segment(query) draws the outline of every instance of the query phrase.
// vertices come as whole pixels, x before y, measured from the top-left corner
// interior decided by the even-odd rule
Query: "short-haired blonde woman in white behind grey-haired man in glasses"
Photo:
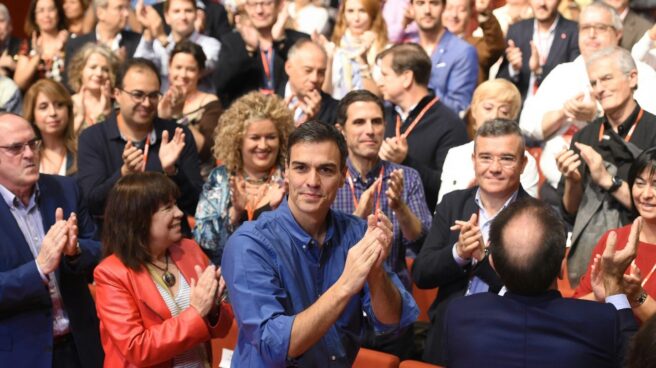
[[[522,98],[514,84],[505,79],[493,79],[481,83],[472,97],[472,103],[465,115],[467,131],[470,137],[475,137],[478,128],[488,120],[503,118],[516,120]],[[471,188],[476,184],[474,174],[474,141],[453,147],[449,150],[442,167],[442,184],[437,203],[442,197],[454,190]],[[529,153],[524,153],[527,162],[520,177],[522,188],[533,197],[538,193],[538,169],[535,159]]]

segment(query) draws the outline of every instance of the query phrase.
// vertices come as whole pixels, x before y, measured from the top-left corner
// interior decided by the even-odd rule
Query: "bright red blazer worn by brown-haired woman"
[[[169,251],[190,284],[197,278],[194,266],[209,262],[192,240],[183,239]],[[176,355],[230,329],[233,317],[227,304],[221,305],[216,326],[191,307],[172,317],[148,270],[129,269],[114,255],[96,267],[94,278],[105,367],[171,367]]]

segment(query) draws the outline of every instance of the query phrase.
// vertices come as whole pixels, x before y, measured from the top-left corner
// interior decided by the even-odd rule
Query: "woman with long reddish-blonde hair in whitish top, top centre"
[[[376,55],[387,46],[387,27],[379,0],[345,0],[339,7],[332,36],[330,93],[341,99],[354,89],[379,94],[371,76]]]

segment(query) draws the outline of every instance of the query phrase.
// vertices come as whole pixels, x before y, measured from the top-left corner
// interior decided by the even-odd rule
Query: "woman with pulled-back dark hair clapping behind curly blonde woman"
[[[169,63],[170,87],[159,104],[159,117],[177,119],[178,124],[189,128],[201,159],[201,175],[207,178],[215,166],[211,149],[223,108],[215,95],[198,90],[204,68],[205,53],[200,46],[191,41],[175,45]]]

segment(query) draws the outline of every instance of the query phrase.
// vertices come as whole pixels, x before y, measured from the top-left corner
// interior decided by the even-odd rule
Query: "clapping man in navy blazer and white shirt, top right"
[[[506,56],[498,77],[513,82],[522,100],[535,95],[556,65],[579,56],[578,27],[558,13],[560,0],[531,0],[534,18],[508,29]]]

